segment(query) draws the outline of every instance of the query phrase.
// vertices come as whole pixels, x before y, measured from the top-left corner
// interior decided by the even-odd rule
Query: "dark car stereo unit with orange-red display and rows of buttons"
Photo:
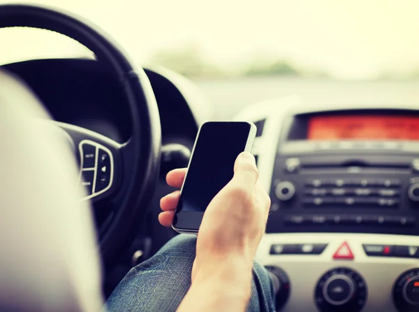
[[[267,233],[419,235],[419,113],[289,116],[270,197]]]

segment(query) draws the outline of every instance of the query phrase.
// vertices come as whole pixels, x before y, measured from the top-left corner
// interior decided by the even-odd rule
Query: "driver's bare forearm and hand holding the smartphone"
[[[258,183],[254,157],[242,153],[233,179],[212,199],[200,225],[192,285],[178,311],[245,311],[251,294],[253,259],[265,232],[270,198]],[[168,173],[182,185],[186,170]],[[179,191],[161,199],[162,225],[170,226]]]

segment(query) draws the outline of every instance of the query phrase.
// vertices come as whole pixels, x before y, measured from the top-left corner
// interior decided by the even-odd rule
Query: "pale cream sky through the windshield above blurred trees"
[[[0,3],[19,3],[0,0]],[[419,71],[418,0],[37,0],[97,24],[138,64],[196,46],[226,69],[286,59],[335,78]],[[0,64],[88,55],[68,38],[0,29]]]

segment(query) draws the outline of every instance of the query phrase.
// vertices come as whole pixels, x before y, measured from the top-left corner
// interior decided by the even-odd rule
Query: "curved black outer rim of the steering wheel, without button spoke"
[[[152,86],[145,72],[135,68],[103,31],[78,17],[38,6],[0,5],[0,29],[7,27],[47,29],[71,37],[94,52],[98,61],[108,66],[120,83],[131,113],[132,130],[128,141],[113,145],[123,151],[124,175],[117,196],[119,208],[99,239],[105,267],[112,267],[138,231],[159,176],[161,127]],[[75,131],[75,127],[70,128]],[[84,132],[78,129],[80,133]],[[100,134],[88,130],[85,133],[89,138],[110,143],[110,139]]]

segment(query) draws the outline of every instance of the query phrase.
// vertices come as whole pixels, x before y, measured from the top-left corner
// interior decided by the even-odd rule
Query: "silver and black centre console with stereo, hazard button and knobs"
[[[419,311],[419,109],[296,101],[237,115],[258,126],[277,310]]]

